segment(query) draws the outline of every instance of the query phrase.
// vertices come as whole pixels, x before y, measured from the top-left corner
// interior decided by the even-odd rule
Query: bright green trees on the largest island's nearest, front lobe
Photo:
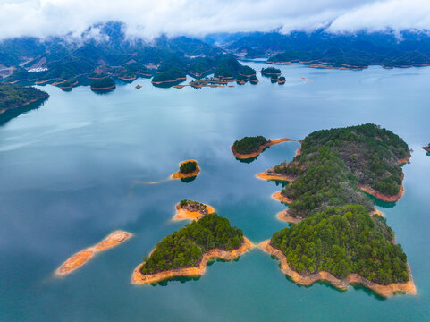
[[[406,255],[392,243],[381,216],[359,206],[329,207],[291,228],[274,233],[271,244],[303,275],[326,271],[337,277],[357,273],[377,284],[409,280]]]

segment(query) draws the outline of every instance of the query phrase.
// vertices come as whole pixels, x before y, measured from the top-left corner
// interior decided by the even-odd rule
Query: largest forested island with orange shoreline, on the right
[[[371,123],[309,134],[290,163],[266,172],[290,178],[277,199],[289,204],[287,221],[298,224],[262,248],[299,284],[324,279],[340,288],[364,284],[384,296],[415,292],[401,245],[362,191],[400,198],[400,164],[409,157],[399,136]]]

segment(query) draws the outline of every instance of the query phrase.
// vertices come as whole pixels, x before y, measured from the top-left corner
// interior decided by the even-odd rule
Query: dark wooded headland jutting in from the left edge
[[[24,106],[47,97],[49,95],[40,89],[0,83],[0,110]]]

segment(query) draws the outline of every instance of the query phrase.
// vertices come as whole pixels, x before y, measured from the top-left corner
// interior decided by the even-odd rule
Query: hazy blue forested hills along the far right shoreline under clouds
[[[269,62],[308,62],[384,67],[430,64],[430,36],[425,31],[359,32],[333,34],[325,30],[255,32],[243,35],[224,47],[245,57],[269,57]]]

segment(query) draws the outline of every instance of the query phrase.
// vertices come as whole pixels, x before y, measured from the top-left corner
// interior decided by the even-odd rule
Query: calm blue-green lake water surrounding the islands
[[[430,68],[281,68],[283,86],[259,77],[257,86],[200,90],[136,80],[107,95],[44,87],[51,95],[44,106],[0,127],[0,320],[428,321],[430,157],[420,147],[430,141]],[[367,122],[414,149],[403,198],[379,208],[408,255],[416,296],[383,300],[361,287],[300,287],[260,250],[215,262],[198,280],[130,284],[141,258],[184,225],[171,222],[181,199],[214,206],[252,242],[285,226],[275,218],[284,206],[270,198],[281,186],[254,175],[290,160],[299,144],[267,148],[246,164],[232,156],[234,140],[300,140]],[[164,180],[188,158],[202,168],[193,182],[139,184]],[[72,275],[53,275],[63,260],[116,229],[135,236]]]

